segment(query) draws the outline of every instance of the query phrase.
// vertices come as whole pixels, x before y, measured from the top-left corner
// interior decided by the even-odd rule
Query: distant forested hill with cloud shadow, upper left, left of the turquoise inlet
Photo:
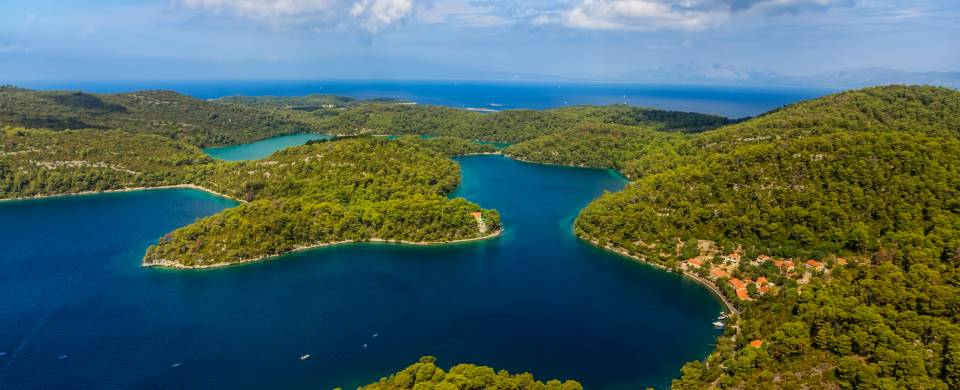
[[[201,147],[314,132],[319,122],[295,110],[216,104],[169,91],[90,94],[0,88],[0,123],[5,125],[122,129]]]

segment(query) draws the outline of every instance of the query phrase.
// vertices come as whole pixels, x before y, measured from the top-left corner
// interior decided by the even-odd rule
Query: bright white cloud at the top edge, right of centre
[[[852,5],[852,0],[582,0],[555,17],[555,23],[589,30],[703,30],[737,14],[783,14]]]

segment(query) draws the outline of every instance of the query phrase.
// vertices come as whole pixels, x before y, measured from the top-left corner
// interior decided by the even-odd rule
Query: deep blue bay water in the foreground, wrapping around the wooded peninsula
[[[456,195],[499,209],[503,236],[169,270],[140,267],[147,245],[231,201],[156,190],[0,203],[0,388],[351,388],[430,354],[635,389],[709,353],[716,297],[571,234],[621,177],[459,161]]]

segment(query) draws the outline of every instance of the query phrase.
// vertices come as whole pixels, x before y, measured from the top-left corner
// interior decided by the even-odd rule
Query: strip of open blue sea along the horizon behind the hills
[[[670,86],[612,83],[521,83],[470,81],[202,81],[202,82],[39,82],[27,88],[128,92],[172,89],[198,98],[230,95],[327,93],[355,98],[391,97],[461,108],[543,109],[580,104],[629,103],[668,110],[757,115],[834,91],[804,88]]]

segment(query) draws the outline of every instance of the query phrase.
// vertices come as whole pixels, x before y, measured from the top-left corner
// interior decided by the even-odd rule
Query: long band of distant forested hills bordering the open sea
[[[201,100],[172,91],[94,94],[0,87],[0,124],[6,126],[120,129],[162,135],[202,148],[297,133],[428,135],[512,143],[588,123],[692,133],[732,122],[715,115],[623,104],[480,113],[335,95]]]

